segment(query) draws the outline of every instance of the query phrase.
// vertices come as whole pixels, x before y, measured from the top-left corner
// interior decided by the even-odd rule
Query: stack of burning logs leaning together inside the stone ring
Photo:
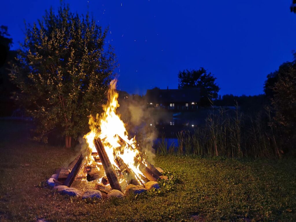
[[[118,149],[122,149],[126,146],[129,146],[131,149],[133,149],[133,147],[120,136],[116,136],[119,140],[119,144],[121,145],[121,148],[119,147]],[[135,163],[139,165],[139,170],[142,172],[145,178],[138,178],[137,175],[133,173],[133,171],[123,162],[120,157],[116,157],[115,159],[115,162],[120,170],[114,169],[107,156],[101,139],[94,139],[94,145],[97,152],[90,153],[90,150],[87,149],[86,152],[78,155],[78,157],[76,157],[75,160],[69,164],[68,168],[62,168],[60,170],[58,177],[58,181],[60,183],[71,187],[75,180],[82,179],[82,177],[79,176],[81,175],[81,172],[84,172],[87,173],[87,181],[94,181],[102,178],[102,184],[110,184],[112,189],[123,192],[124,186],[122,183],[120,183],[120,181],[126,181],[127,184],[144,186],[144,183],[139,181],[144,181],[145,183],[148,181],[157,181],[161,176],[161,173],[152,164],[146,162],[146,166],[142,162],[143,156],[141,154],[139,154],[138,157],[135,157]],[[94,157],[94,160],[97,163],[96,165],[89,166],[86,164],[86,157],[89,155]]]

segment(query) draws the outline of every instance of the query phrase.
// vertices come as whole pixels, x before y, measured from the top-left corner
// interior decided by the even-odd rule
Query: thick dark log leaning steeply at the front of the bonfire
[[[106,176],[108,178],[111,188],[119,190],[121,192],[121,187],[118,182],[117,176],[116,176],[115,171],[112,167],[112,164],[107,156],[107,153],[105,151],[105,148],[102,144],[101,139],[100,138],[94,139],[94,145],[95,145],[96,150],[98,151],[98,154],[100,156],[102,165],[104,167],[104,170],[105,170],[105,173],[106,173]]]

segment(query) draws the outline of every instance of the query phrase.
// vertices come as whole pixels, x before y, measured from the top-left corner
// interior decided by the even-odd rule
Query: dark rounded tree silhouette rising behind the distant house
[[[215,78],[211,73],[207,73],[203,67],[199,70],[183,70],[179,71],[179,89],[200,88],[200,104],[209,105],[210,98],[217,98],[219,86],[215,83]]]

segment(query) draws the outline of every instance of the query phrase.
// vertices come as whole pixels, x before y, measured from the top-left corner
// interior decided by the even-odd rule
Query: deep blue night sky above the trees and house
[[[292,0],[65,2],[79,14],[91,12],[102,27],[110,26],[107,43],[120,63],[118,88],[129,93],[177,88],[179,70],[202,66],[217,78],[221,95],[260,94],[266,75],[291,61],[296,49]],[[33,23],[59,4],[2,1],[0,25],[8,26],[13,49],[24,39],[24,20]]]

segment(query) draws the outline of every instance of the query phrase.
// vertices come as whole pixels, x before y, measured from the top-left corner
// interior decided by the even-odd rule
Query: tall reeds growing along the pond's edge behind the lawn
[[[268,109],[254,116],[220,108],[211,111],[205,125],[193,131],[176,134],[178,147],[170,148],[177,155],[241,157],[280,157],[275,128]],[[162,134],[157,153],[167,154],[165,135]],[[175,146],[175,144],[174,144]]]

